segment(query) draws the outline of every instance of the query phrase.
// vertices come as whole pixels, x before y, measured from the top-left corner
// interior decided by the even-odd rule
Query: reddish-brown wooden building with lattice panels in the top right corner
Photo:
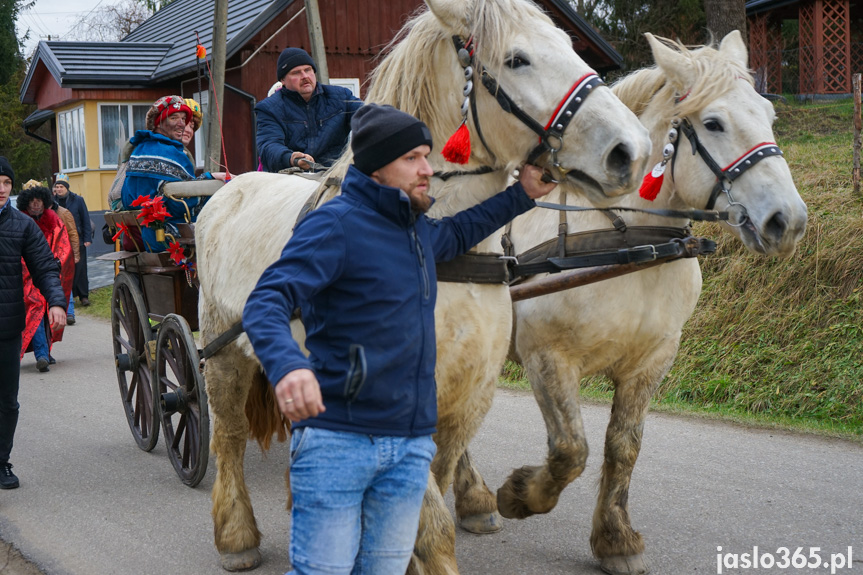
[[[851,93],[863,71],[863,3],[859,0],[749,0],[749,60],[761,92],[783,91],[782,71],[796,56],[797,93],[806,97]],[[782,22],[796,20],[798,51],[784,51]]]

